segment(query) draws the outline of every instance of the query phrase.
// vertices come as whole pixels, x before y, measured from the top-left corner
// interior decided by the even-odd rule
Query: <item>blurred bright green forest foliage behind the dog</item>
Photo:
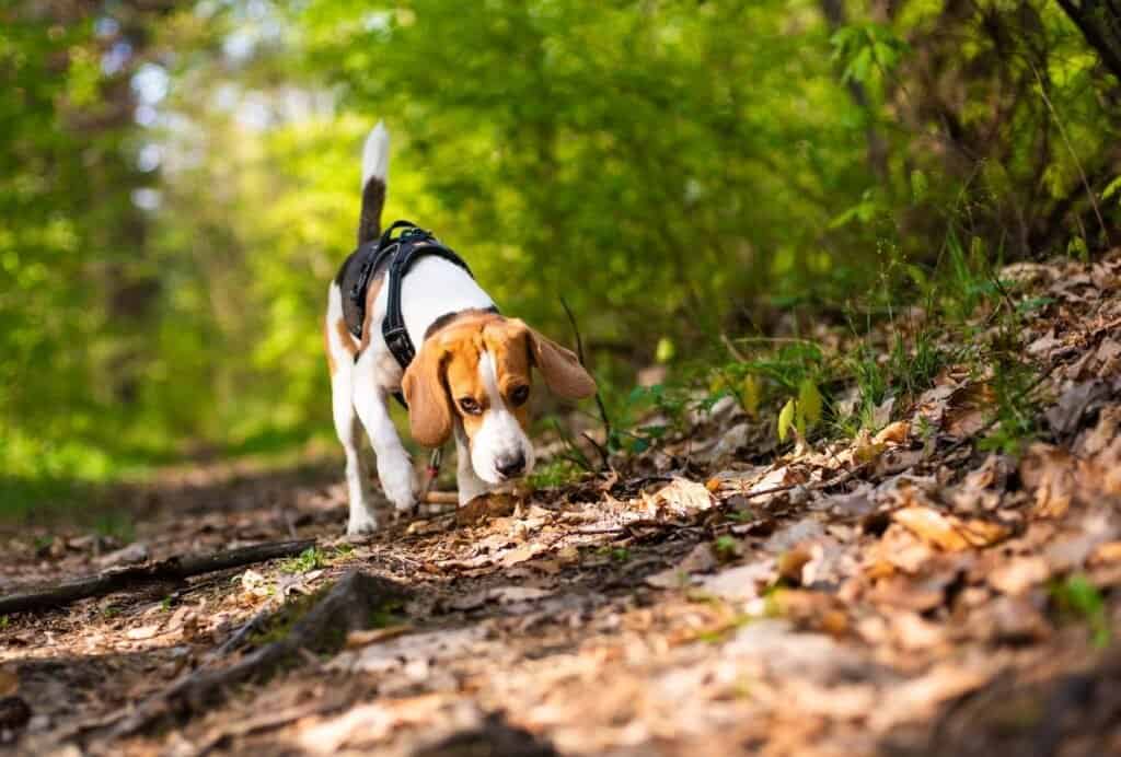
[[[387,219],[568,340],[563,293],[626,391],[776,307],[874,314],[947,239],[1109,243],[1118,95],[1043,0],[3,3],[0,478],[330,436],[378,119]]]

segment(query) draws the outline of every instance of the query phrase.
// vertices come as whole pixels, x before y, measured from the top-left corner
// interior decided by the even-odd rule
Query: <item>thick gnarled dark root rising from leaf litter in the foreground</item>
[[[266,677],[279,665],[298,664],[304,649],[337,651],[352,630],[373,625],[387,602],[408,596],[407,589],[385,578],[352,571],[323,594],[282,637],[249,653],[229,667],[202,667],[150,697],[113,728],[110,739],[147,730],[166,718],[187,718],[213,707],[224,691],[245,681]],[[284,613],[281,608],[278,613]]]

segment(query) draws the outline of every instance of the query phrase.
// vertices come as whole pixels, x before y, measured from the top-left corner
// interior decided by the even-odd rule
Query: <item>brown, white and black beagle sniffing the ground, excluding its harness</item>
[[[373,446],[378,478],[389,502],[398,513],[416,504],[415,470],[389,414],[395,393],[404,394],[417,442],[441,447],[455,438],[463,505],[532,470],[534,446],[526,433],[531,368],[540,371],[549,390],[563,398],[587,398],[596,390],[572,351],[521,320],[498,315],[494,301],[466,265],[430,235],[417,244],[434,244],[454,260],[414,253],[411,265],[395,283],[397,318],[410,346],[419,347],[411,362],[390,348],[382,326],[391,308],[391,287],[386,283],[392,265],[369,262],[381,234],[388,168],[389,133],[378,123],[362,151],[359,249],[331,284],[324,323],[335,431],[346,452],[349,534],[376,530],[379,516],[385,515],[374,506],[370,490],[371,466],[361,428]],[[388,239],[389,233],[381,239],[382,246]],[[363,258],[367,270],[360,270]],[[355,271],[364,274],[360,287],[352,284]],[[355,320],[355,308],[360,320]]]

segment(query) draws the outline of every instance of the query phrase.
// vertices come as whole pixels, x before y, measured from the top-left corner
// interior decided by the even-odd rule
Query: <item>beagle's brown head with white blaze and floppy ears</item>
[[[457,318],[425,339],[401,382],[413,438],[439,447],[462,423],[475,474],[489,484],[534,468],[530,371],[556,394],[581,399],[595,381],[576,355],[522,321],[494,314]]]

